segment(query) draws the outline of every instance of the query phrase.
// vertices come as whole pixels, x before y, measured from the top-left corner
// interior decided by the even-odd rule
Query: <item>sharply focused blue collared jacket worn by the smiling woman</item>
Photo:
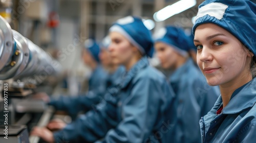
[[[200,120],[202,142],[256,142],[256,79],[232,93],[222,112],[222,98]]]

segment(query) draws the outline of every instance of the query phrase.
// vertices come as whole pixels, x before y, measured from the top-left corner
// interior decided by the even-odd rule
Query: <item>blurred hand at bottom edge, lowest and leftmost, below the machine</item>
[[[45,127],[42,127],[42,128],[35,127],[31,131],[30,135],[39,136],[42,139],[44,139],[46,142],[54,142],[53,133]]]

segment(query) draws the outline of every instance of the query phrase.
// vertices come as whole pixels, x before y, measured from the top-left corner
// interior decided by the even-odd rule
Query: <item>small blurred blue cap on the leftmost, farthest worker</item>
[[[93,39],[87,39],[84,41],[84,47],[87,51],[90,52],[90,54],[93,56],[93,58],[99,62],[99,45],[93,40]]]

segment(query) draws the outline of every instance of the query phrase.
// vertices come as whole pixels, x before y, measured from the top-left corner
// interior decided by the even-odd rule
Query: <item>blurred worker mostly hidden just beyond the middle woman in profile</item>
[[[108,73],[108,78],[106,79],[106,88],[112,87],[118,83],[118,79],[124,74],[124,67],[118,66],[112,62],[110,57],[110,52],[108,46],[110,44],[110,38],[105,37],[100,44],[99,59],[102,67]],[[106,92],[106,89],[104,89]],[[87,112],[89,110],[94,110],[96,105],[103,99],[102,95],[104,93],[98,92],[97,90],[91,90],[87,95],[79,95],[77,97],[60,97],[57,100],[52,100],[49,105],[54,106],[57,110],[68,111],[69,114],[75,114],[80,112]],[[71,108],[72,107],[72,108]],[[66,123],[54,119],[48,125],[47,128],[50,130],[60,130],[66,126]]]

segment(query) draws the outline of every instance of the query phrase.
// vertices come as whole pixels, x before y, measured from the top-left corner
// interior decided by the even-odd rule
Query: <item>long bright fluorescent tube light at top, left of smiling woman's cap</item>
[[[196,0],[181,0],[173,5],[169,5],[154,14],[156,21],[163,21],[175,14],[181,13],[197,4]]]

